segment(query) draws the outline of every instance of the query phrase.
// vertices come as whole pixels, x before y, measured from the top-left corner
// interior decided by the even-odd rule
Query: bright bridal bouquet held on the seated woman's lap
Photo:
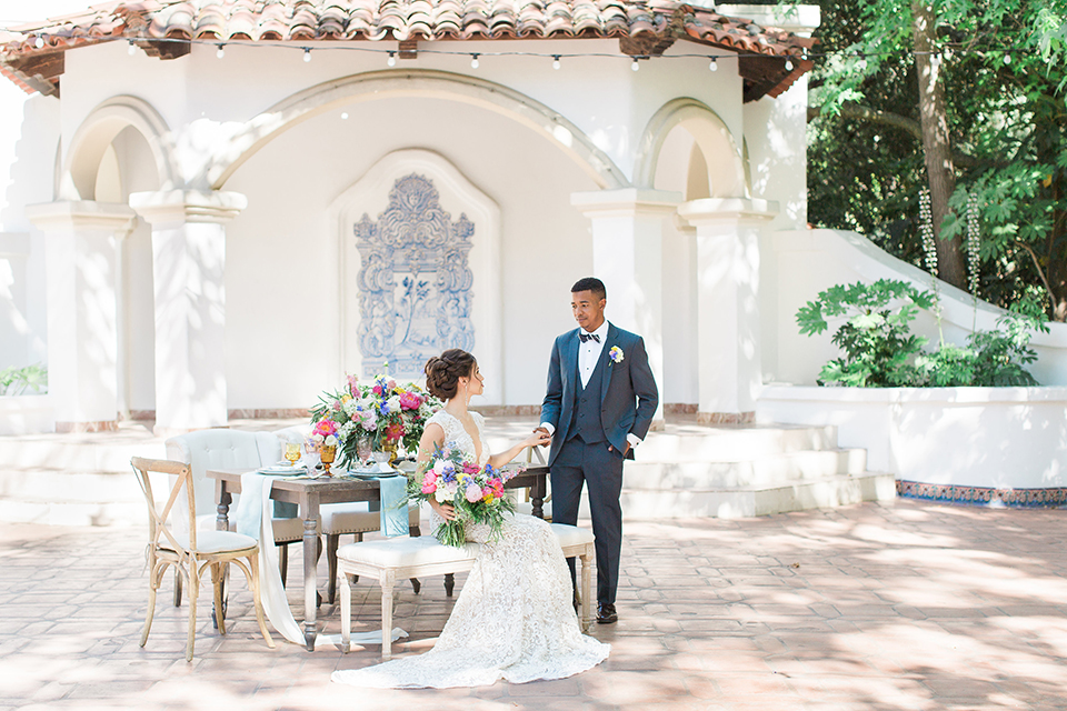
[[[515,503],[503,495],[503,484],[520,471],[489,464],[479,468],[453,443],[446,442],[408,479],[408,499],[422,503],[432,498],[438,503],[452,504],[456,519],[445,521],[433,532],[445,545],[463,547],[468,521],[488,525],[489,540],[495,541],[500,538],[503,514],[515,511]]]

